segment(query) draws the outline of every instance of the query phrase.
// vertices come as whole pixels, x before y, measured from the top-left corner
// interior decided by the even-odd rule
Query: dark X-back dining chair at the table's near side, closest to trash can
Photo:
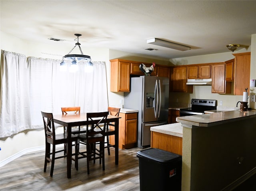
[[[104,156],[104,135],[106,131],[106,119],[108,117],[108,111],[98,113],[86,113],[88,123],[86,125],[86,133],[78,135],[79,144],[86,145],[86,151],[79,151],[78,159],[85,158],[87,161],[87,174],[90,174],[89,161],[93,160],[95,163],[96,159],[102,161],[102,170],[105,170],[105,156]],[[100,143],[100,149],[97,152],[96,143]],[[79,147],[80,149],[80,147]]]

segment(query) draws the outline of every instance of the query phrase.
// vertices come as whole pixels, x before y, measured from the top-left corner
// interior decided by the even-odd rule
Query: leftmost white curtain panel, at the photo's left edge
[[[1,51],[0,137],[31,128],[26,56]]]

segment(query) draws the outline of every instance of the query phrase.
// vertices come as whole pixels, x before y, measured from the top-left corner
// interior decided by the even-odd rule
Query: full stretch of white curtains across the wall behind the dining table
[[[8,57],[16,58],[18,55],[3,52],[7,55],[14,55]],[[7,59],[6,54],[2,53],[2,60]],[[24,55],[22,58],[24,59],[22,62],[19,60],[15,62],[18,67],[16,70],[10,68],[14,65],[14,60],[1,62],[0,137],[7,137],[24,129],[42,128],[40,111],[60,114],[60,107],[71,106],[80,106],[81,112],[107,111],[105,62],[92,62],[92,72],[84,69],[86,62],[79,62],[78,70],[70,72],[70,63],[67,64],[66,71],[60,70],[60,60],[29,57],[26,62]],[[15,88],[16,94],[10,92],[12,87],[17,87]],[[15,102],[10,97],[20,100],[22,104],[14,105]],[[6,102],[8,106],[5,105]],[[13,108],[12,111],[8,111],[10,107]],[[18,113],[20,110],[22,112]],[[10,114],[2,115],[2,113]],[[6,125],[8,122],[10,125]],[[15,128],[15,131],[11,130],[10,126]]]

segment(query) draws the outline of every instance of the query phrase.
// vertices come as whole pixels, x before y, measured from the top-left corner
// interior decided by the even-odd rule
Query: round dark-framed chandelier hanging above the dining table
[[[76,48],[76,46],[78,46],[81,54],[70,54],[72,52],[72,50],[70,50],[70,52],[68,54],[66,54],[65,56],[62,57],[62,62],[60,63],[60,66],[66,66],[66,62],[64,59],[66,60],[70,60],[72,62],[71,66],[76,65],[79,61],[83,61],[83,60],[87,60],[88,64],[90,64],[92,66],[92,62],[91,62],[91,57],[84,55],[82,52],[82,49],[80,47],[80,43],[79,43],[79,36],[82,36],[81,34],[75,34],[75,36],[77,36],[77,38],[75,39],[76,45],[72,48],[72,50],[74,50],[74,48]]]

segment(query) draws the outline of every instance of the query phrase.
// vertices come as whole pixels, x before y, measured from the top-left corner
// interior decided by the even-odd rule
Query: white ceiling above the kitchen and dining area
[[[78,33],[82,34],[82,50],[110,48],[181,58],[229,52],[227,44],[250,46],[251,35],[256,34],[255,0],[1,0],[0,8],[2,32],[42,43],[49,43],[50,37],[63,39],[70,43],[70,50]],[[184,44],[192,50],[147,44],[150,38]]]

